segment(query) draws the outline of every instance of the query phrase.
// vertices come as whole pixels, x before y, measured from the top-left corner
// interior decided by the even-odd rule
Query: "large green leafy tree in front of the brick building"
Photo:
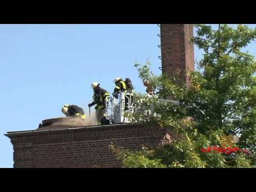
[[[183,139],[151,150],[118,150],[124,167],[256,167],[256,63],[243,51],[256,38],[256,29],[195,27],[193,42],[204,54],[199,70],[188,73],[190,85],[153,75],[149,61],[135,63],[142,82],[152,83],[157,95],[135,96],[138,110],[133,121],[173,127]],[[169,95],[179,104],[161,101]],[[153,113],[143,114],[141,109]],[[223,134],[236,135],[235,146],[250,153],[202,153],[202,148],[221,146],[218,137]]]

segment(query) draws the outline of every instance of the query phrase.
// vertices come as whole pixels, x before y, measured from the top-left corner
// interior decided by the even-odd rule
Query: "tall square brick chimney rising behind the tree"
[[[161,24],[162,71],[189,83],[187,71],[194,70],[193,25]]]

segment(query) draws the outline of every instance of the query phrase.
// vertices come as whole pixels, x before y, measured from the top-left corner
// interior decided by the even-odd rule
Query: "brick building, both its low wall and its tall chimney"
[[[194,70],[193,26],[161,25],[163,73],[179,74],[188,83],[186,71]],[[178,139],[171,127],[151,124],[115,124],[7,132],[13,145],[14,167],[121,167],[109,148],[117,145],[141,149]]]

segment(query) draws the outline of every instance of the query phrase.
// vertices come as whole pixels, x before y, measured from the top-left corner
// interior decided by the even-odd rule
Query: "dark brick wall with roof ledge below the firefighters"
[[[9,132],[14,167],[121,167],[108,147],[156,147],[175,138],[153,125],[125,124],[62,130]]]

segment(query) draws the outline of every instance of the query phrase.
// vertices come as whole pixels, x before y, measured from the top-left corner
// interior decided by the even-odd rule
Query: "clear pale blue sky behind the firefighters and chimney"
[[[92,82],[113,92],[115,77],[130,77],[144,92],[133,64],[149,58],[161,74],[159,33],[157,25],[139,24],[0,25],[0,167],[13,167],[3,134],[37,129],[43,119],[62,116],[65,103],[87,112]],[[246,50],[256,56],[255,45]],[[195,47],[195,59],[201,54]]]

